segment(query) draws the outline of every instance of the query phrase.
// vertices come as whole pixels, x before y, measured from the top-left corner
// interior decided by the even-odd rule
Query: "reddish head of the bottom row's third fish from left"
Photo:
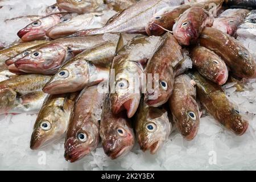
[[[126,119],[119,117],[118,120],[108,128],[108,132],[102,138],[104,152],[111,159],[126,155],[134,145],[133,129]]]

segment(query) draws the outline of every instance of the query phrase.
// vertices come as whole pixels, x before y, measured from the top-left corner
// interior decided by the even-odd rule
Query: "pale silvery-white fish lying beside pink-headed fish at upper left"
[[[113,16],[112,12],[114,11],[65,16],[59,24],[49,28],[46,35],[51,39],[59,39],[81,30],[101,28]]]

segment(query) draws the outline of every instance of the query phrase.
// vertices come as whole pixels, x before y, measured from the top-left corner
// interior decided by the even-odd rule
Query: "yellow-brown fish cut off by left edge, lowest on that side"
[[[12,110],[14,107],[29,105],[30,102],[26,102],[27,100],[35,99],[36,102],[38,98],[44,97],[43,93],[34,94],[31,97],[31,93],[41,92],[50,78],[50,76],[43,75],[20,75],[0,82],[0,114],[15,113]],[[33,108],[23,107],[23,109],[25,109],[24,111],[29,111]]]

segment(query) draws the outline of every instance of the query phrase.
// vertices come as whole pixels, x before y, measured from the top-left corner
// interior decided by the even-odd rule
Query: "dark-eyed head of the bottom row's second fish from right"
[[[187,96],[184,100],[182,111],[174,117],[174,122],[180,133],[187,140],[192,140],[199,129],[199,107],[194,98]]]

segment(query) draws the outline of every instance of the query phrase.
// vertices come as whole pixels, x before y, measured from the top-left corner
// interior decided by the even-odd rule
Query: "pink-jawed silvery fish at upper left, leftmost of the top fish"
[[[18,36],[23,42],[30,42],[32,40],[46,39],[46,31],[61,22],[61,18],[65,18],[68,13],[55,13],[48,16],[44,16],[34,22],[28,24],[28,26],[22,28],[18,32]]]

